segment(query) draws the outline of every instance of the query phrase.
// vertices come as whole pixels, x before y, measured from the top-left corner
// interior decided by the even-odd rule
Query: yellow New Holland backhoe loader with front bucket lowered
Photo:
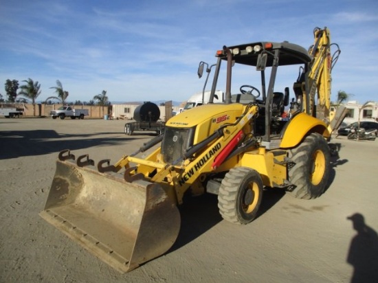
[[[88,155],[60,152],[41,216],[126,272],[170,249],[184,195],[217,194],[221,216],[236,224],[254,220],[263,188],[301,199],[320,196],[329,185],[327,141],[342,120],[330,111],[331,69],[339,54],[326,27],[315,28],[309,50],[288,42],[224,46],[216,52],[210,103],[172,117],[164,133],[137,152],[97,166]],[[295,71],[278,91],[278,68],[292,65],[298,78]],[[236,76],[238,68],[247,76]],[[241,80],[246,84],[232,94]],[[211,103],[224,82],[225,102]],[[137,157],[148,149],[148,157]]]

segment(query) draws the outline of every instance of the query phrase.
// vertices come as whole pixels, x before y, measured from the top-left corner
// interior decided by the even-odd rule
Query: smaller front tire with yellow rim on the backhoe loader
[[[232,168],[225,174],[219,188],[219,213],[231,223],[245,225],[256,218],[262,199],[260,174],[251,168]]]

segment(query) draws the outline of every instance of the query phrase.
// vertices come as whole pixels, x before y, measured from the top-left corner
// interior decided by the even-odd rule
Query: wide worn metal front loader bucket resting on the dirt
[[[157,183],[60,160],[40,215],[122,273],[168,251],[180,227],[177,206]]]

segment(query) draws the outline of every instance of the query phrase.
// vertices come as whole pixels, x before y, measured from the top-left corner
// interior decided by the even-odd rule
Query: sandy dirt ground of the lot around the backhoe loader
[[[38,216],[60,150],[115,162],[148,139],[124,135],[123,120],[0,119],[0,282],[318,283],[378,277],[378,139],[334,138],[341,150],[328,190],[311,201],[266,191],[249,225],[222,220],[216,196],[188,201],[180,208],[173,248],[123,275]],[[353,226],[347,217],[356,213],[363,218]]]

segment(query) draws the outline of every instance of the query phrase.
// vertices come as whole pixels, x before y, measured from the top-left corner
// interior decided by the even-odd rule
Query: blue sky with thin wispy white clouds
[[[199,62],[216,63],[223,45],[308,48],[315,27],[328,27],[341,49],[331,100],[345,91],[378,101],[377,0],[0,0],[0,93],[7,79],[32,78],[37,101],[60,80],[68,102],[103,90],[111,102],[182,102],[202,91]],[[298,71],[284,75],[292,87]]]

